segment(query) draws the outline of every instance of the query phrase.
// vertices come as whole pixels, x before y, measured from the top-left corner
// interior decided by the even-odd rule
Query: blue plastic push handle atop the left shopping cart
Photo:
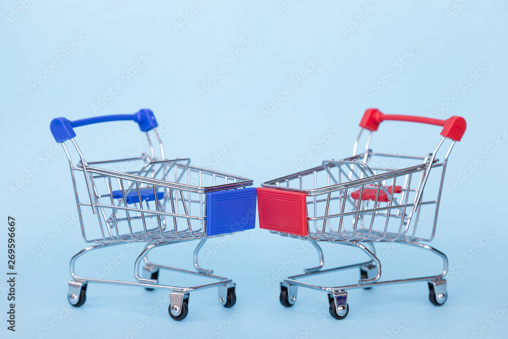
[[[157,127],[157,120],[153,112],[149,109],[140,109],[139,112],[134,114],[118,114],[118,115],[103,115],[94,116],[92,118],[80,119],[71,121],[69,119],[60,117],[54,118],[51,121],[49,128],[55,138],[56,142],[64,142],[76,136],[74,127],[80,127],[91,124],[98,124],[99,122],[106,121],[121,121],[121,120],[133,120],[138,123],[139,129],[142,132],[150,131],[154,127]]]

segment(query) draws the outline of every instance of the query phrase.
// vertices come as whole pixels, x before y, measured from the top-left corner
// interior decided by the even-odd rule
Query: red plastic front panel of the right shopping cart
[[[307,235],[307,198],[299,192],[258,187],[259,227]]]

